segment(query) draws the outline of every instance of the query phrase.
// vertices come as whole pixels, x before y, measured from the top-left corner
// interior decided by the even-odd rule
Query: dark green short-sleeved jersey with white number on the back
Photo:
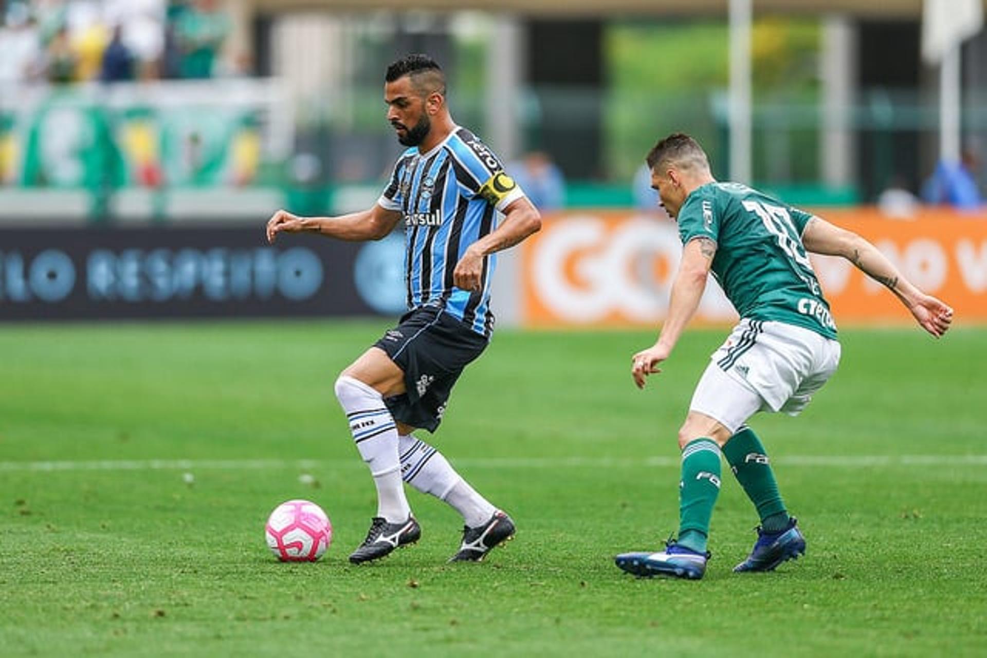
[[[801,234],[812,215],[739,183],[694,189],[678,214],[685,245],[717,243],[713,274],[741,318],[811,329],[836,337]]]

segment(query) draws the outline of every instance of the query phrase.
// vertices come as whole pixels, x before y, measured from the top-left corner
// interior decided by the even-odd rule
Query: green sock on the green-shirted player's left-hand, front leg
[[[678,544],[706,552],[713,505],[720,495],[720,446],[713,439],[690,441],[682,449]]]

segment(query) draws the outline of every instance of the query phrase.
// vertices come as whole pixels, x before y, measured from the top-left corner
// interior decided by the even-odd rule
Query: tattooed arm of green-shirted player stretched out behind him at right
[[[858,269],[884,284],[901,300],[918,324],[937,338],[946,333],[952,322],[952,309],[927,295],[906,279],[887,256],[853,231],[841,229],[821,217],[813,217],[802,232],[802,245],[814,254],[843,256]]]

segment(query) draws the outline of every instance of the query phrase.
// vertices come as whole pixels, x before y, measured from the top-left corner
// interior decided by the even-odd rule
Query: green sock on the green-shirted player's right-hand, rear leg
[[[768,455],[754,430],[750,427],[740,428],[723,446],[723,457],[743,486],[747,497],[757,508],[761,527],[765,532],[777,533],[785,530],[789,523],[789,513],[778,492],[778,482],[775,481]]]

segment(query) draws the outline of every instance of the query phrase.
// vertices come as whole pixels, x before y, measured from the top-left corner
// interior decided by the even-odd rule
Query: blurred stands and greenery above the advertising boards
[[[676,129],[718,177],[797,204],[980,207],[982,31],[959,51],[961,157],[944,159],[922,3],[753,3],[738,173],[733,3],[575,4],[0,0],[0,220],[359,207],[400,149],[381,81],[409,51],[443,63],[456,119],[545,210],[653,209],[643,155]]]

